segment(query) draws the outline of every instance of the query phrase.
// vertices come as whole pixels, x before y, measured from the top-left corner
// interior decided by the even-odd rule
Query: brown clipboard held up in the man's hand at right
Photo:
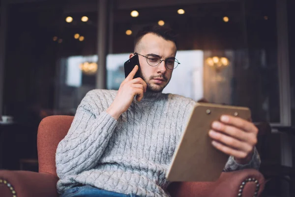
[[[167,170],[169,181],[216,181],[229,156],[211,145],[208,135],[213,121],[221,115],[250,120],[247,107],[196,103]]]

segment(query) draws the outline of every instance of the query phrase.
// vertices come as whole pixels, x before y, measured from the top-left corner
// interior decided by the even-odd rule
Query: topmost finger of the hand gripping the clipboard
[[[220,120],[223,123],[240,128],[243,131],[258,133],[258,129],[257,129],[257,127],[255,127],[255,125],[253,123],[243,120],[239,117],[223,115],[223,116],[221,116]]]

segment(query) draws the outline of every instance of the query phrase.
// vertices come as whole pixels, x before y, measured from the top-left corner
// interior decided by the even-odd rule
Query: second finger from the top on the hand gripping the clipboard
[[[212,124],[212,129],[223,132],[229,136],[232,136],[240,141],[248,142],[252,145],[257,143],[257,137],[252,133],[242,131],[236,127],[222,124],[218,121],[214,121]]]

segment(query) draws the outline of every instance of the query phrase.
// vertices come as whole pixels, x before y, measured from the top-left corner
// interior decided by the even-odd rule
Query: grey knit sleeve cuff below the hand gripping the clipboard
[[[255,147],[254,154],[252,156],[251,161],[248,164],[238,164],[233,156],[229,157],[229,160],[225,164],[223,169],[224,172],[235,171],[240,169],[254,168],[259,169],[261,164],[259,153]]]

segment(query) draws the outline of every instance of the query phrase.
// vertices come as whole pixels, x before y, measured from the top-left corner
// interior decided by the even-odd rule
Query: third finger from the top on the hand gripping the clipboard
[[[240,150],[246,153],[249,153],[252,151],[252,145],[249,145],[245,142],[239,141],[231,136],[222,134],[220,132],[216,132],[213,130],[209,131],[209,136],[214,139],[214,141],[218,141],[223,143],[224,145],[234,148],[236,150]]]

